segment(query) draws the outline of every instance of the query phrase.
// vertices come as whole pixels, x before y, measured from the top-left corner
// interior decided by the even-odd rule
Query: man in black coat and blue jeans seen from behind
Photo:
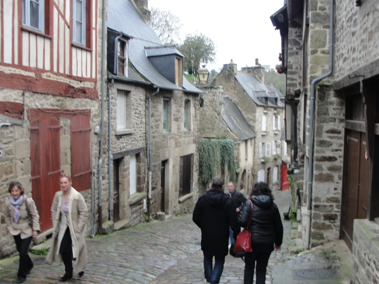
[[[220,282],[228,254],[229,227],[233,229],[234,238],[240,232],[233,201],[223,190],[221,178],[213,178],[211,189],[198,198],[193,210],[192,220],[202,230],[205,283]]]

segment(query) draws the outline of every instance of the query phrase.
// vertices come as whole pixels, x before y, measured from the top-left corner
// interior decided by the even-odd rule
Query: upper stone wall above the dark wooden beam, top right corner
[[[335,79],[379,58],[379,3],[335,1]]]

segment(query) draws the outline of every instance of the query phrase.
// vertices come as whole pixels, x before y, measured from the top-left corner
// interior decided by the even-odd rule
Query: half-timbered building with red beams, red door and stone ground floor
[[[42,0],[30,14],[32,2],[7,5],[0,18],[0,257],[15,252],[3,217],[13,180],[36,203],[37,241],[52,233],[50,207],[61,172],[83,194],[92,217],[87,227],[95,231],[101,125],[102,1]],[[85,21],[75,26],[82,15]]]

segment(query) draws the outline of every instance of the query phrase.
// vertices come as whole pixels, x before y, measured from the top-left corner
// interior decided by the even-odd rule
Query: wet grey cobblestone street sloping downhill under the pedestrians
[[[276,192],[275,197],[283,216],[283,210],[286,204],[289,204],[289,192]],[[292,266],[300,265],[303,261],[318,266],[328,265],[329,262],[339,265],[338,257],[333,253],[291,256],[289,250],[294,245],[290,239],[291,224],[289,221],[283,222],[284,246],[282,251],[273,252],[271,255],[267,284],[304,283],[293,280],[286,282],[285,277],[281,276],[281,273],[290,275]],[[140,224],[111,235],[88,238],[88,269],[80,280],[76,275],[71,282],[203,283],[203,254],[200,250],[200,240],[200,229],[192,222],[191,215]],[[1,283],[15,281],[17,259],[18,257],[13,257],[0,262]],[[33,259],[35,266],[26,283],[58,283],[59,277],[64,274],[63,265],[49,267],[44,263],[44,257],[33,256]],[[278,267],[285,271],[277,273]],[[242,259],[227,256],[221,283],[242,283],[243,270]]]

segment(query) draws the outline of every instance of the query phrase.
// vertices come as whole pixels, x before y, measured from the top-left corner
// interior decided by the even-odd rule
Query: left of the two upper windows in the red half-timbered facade
[[[45,0],[22,0],[23,26],[45,33]]]

